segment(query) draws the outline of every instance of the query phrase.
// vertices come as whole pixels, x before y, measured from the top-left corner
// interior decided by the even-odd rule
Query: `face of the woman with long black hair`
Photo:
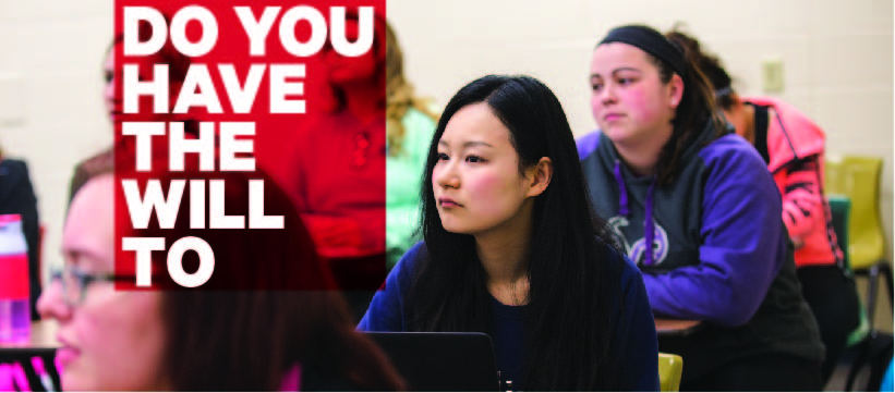
[[[531,179],[519,173],[510,132],[484,102],[460,109],[448,121],[432,187],[442,225],[453,233],[512,225],[533,202]]]

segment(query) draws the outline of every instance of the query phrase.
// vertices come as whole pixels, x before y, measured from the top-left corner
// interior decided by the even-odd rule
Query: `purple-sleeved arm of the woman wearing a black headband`
[[[758,153],[706,156],[699,262],[643,281],[656,317],[735,327],[755,314],[786,257],[781,198]]]

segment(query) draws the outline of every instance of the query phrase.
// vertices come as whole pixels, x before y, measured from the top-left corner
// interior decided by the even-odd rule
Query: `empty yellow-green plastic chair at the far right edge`
[[[883,160],[876,157],[827,156],[824,164],[827,195],[843,195],[851,200],[848,247],[842,248],[848,249],[846,259],[855,274],[868,277],[867,314],[872,329],[881,278],[886,280],[888,304],[893,305],[892,266],[886,260],[885,236],[880,223]]]

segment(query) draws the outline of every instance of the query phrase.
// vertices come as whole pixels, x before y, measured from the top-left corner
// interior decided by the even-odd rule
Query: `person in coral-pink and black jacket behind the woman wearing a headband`
[[[694,38],[679,30],[665,35],[709,78],[716,103],[737,134],[758,149],[783,195],[783,222],[796,245],[796,273],[802,296],[818,320],[826,346],[822,374],[826,381],[860,323],[855,283],[846,275],[823,193],[823,131],[795,107],[772,97],[740,97],[721,60],[705,53]]]

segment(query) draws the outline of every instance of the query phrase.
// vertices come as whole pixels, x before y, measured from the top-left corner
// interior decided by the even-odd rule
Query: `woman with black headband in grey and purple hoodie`
[[[702,73],[656,30],[622,26],[594,49],[591,86],[601,131],[578,145],[597,213],[643,271],[653,314],[703,321],[658,340],[687,364],[681,391],[821,390],[779,193]]]

